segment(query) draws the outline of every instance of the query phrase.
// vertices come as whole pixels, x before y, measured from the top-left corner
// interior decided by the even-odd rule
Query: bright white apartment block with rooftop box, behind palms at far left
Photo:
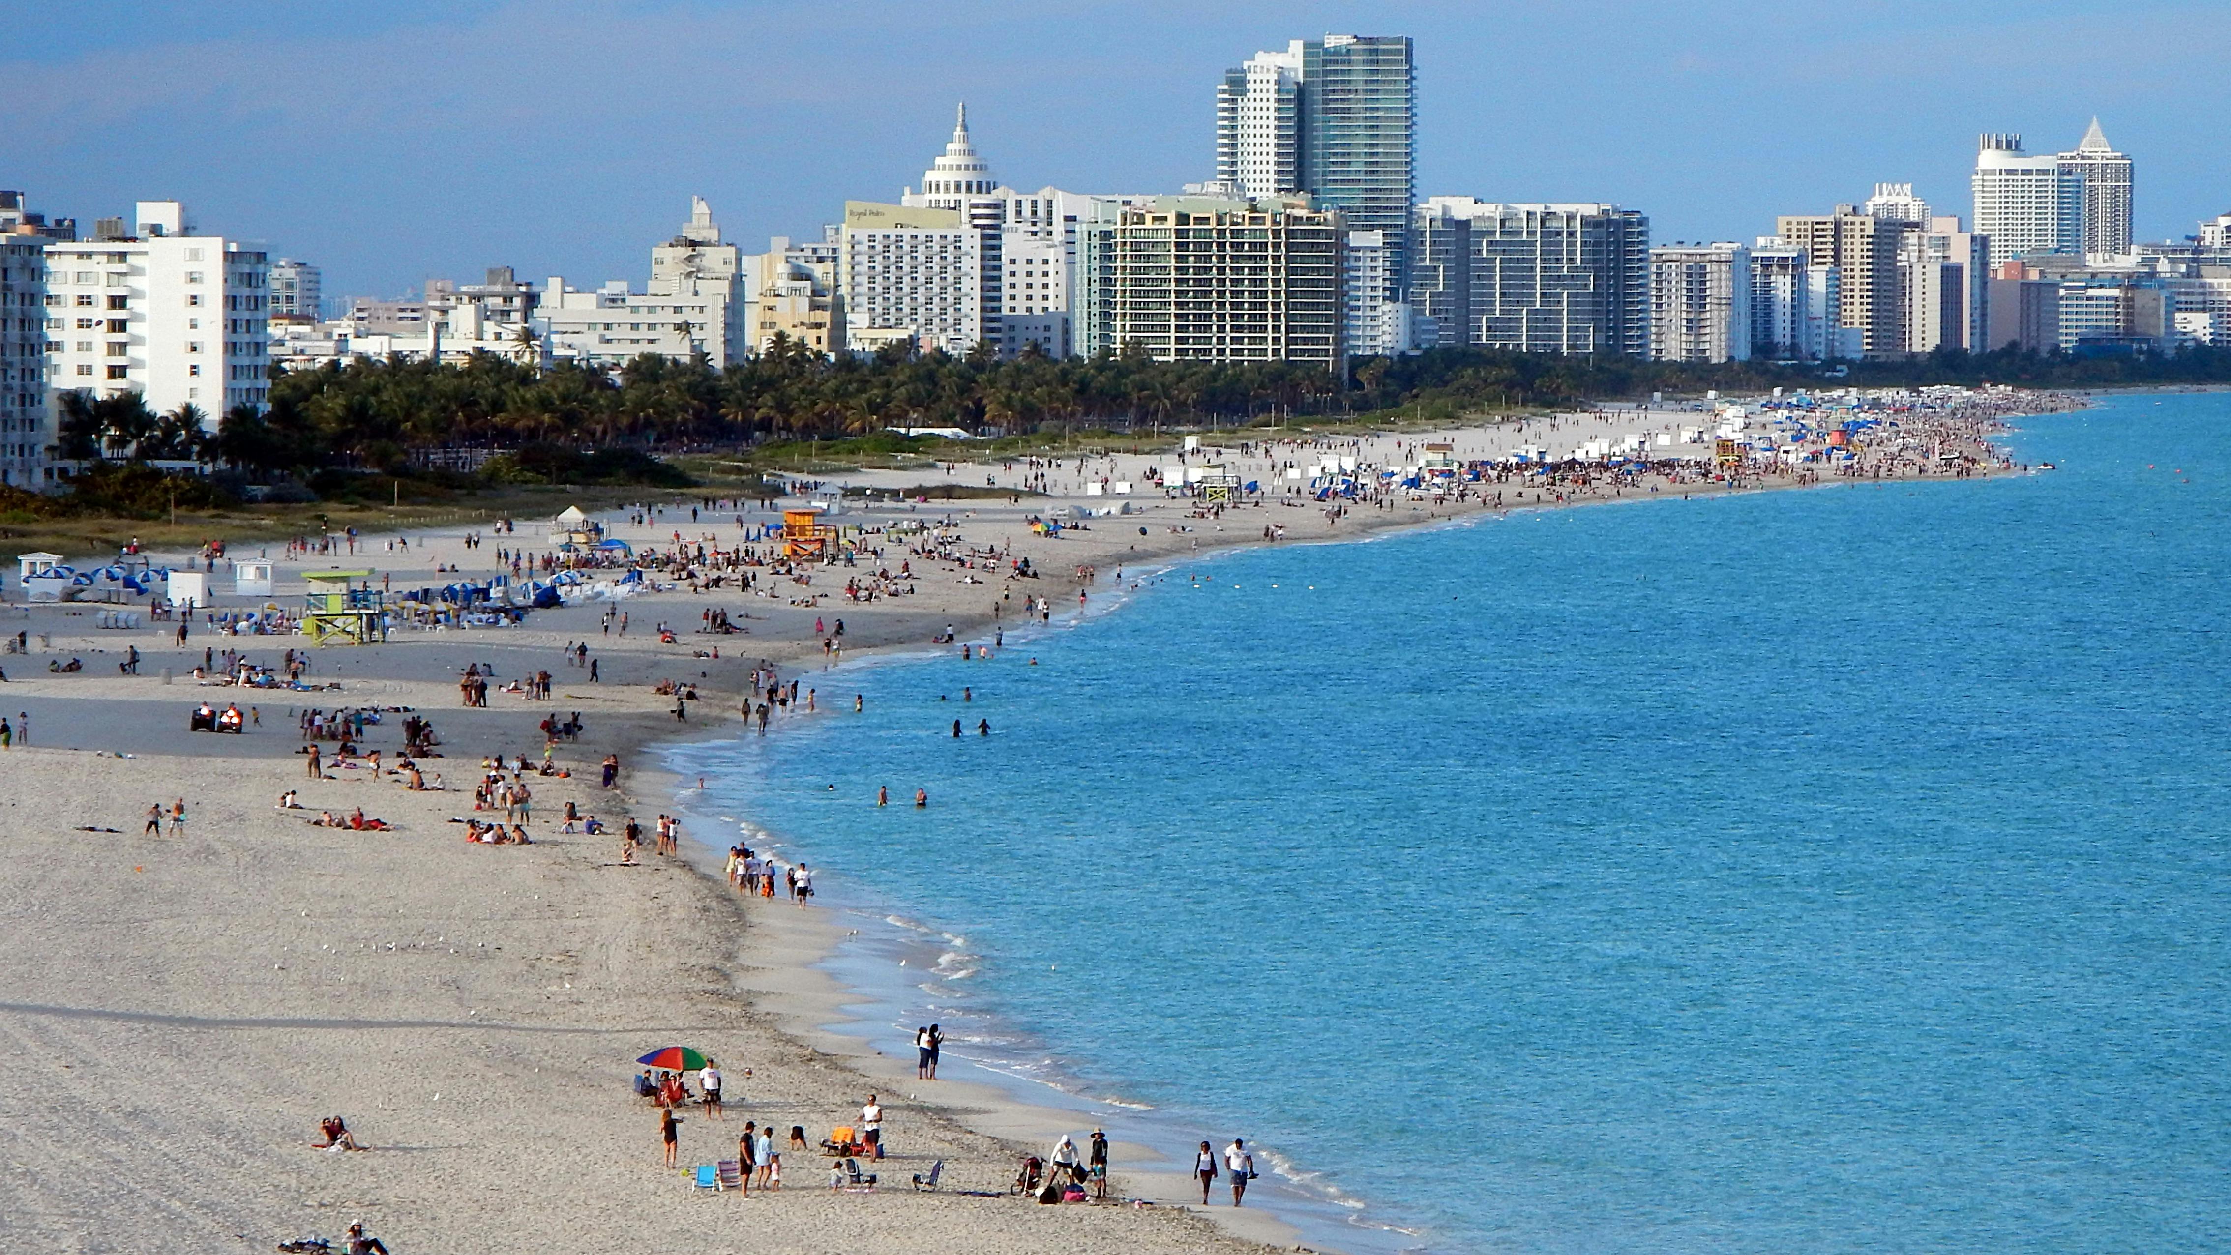
[[[192,234],[178,201],[141,201],[132,234],[47,247],[49,386],[196,406],[210,428],[270,399],[270,259]]]

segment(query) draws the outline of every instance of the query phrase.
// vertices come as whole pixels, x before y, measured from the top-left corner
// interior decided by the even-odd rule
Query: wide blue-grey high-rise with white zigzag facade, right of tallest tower
[[[1432,196],[1414,232],[1410,299],[1432,325],[1432,346],[1651,350],[1651,223],[1642,212]]]

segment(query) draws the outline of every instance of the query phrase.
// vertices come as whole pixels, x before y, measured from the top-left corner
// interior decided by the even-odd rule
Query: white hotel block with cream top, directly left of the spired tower
[[[904,339],[970,352],[986,339],[984,236],[959,210],[846,201],[839,254],[846,346]]]

